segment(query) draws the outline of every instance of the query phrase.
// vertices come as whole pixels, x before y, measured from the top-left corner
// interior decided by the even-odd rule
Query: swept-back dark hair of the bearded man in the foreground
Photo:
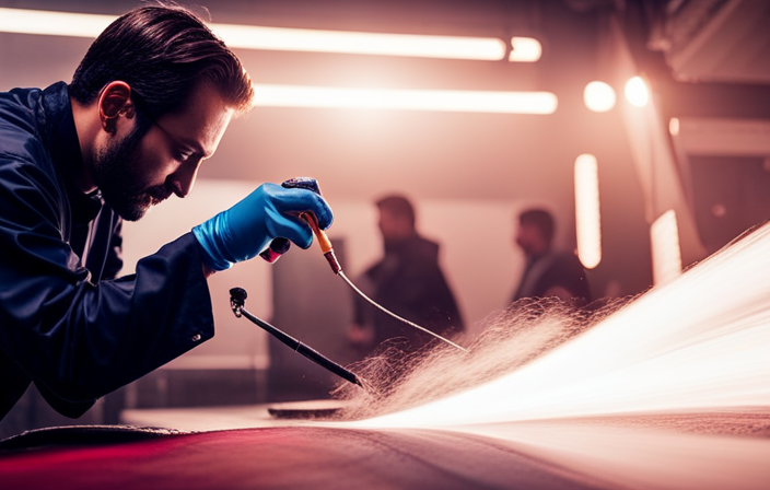
[[[91,104],[116,80],[129,84],[153,119],[182,108],[202,81],[238,113],[254,103],[252,81],[235,54],[201,18],[174,3],[140,7],[109,24],[75,70],[70,95]]]

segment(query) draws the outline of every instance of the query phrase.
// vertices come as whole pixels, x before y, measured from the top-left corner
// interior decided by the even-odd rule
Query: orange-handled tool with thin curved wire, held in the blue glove
[[[283,187],[287,188],[303,188],[307,190],[312,190],[318,195],[320,195],[320,188],[318,187],[318,183],[314,178],[307,178],[307,177],[298,177],[298,178],[292,178],[283,184],[281,184]],[[409,325],[410,327],[417,328],[418,330],[421,330],[430,336],[433,336],[441,340],[442,342],[448,343],[450,346],[465,351],[466,349],[458,346],[457,343],[453,342],[452,340],[448,340],[439,334],[431,331],[424,327],[421,327],[420,325],[417,325],[413,322],[410,322],[406,318],[401,318],[400,316],[396,315],[395,313],[390,312],[389,310],[385,308],[381,304],[376,303],[374,300],[369,298],[366,294],[363,293],[360,289],[355,287],[355,284],[352,283],[350,279],[342,272],[342,266],[340,266],[339,260],[337,260],[337,257],[335,256],[335,249],[331,246],[331,242],[329,241],[328,236],[326,236],[326,233],[318,226],[318,219],[313,214],[312,212],[303,212],[300,214],[300,218],[302,218],[313,230],[313,234],[315,235],[316,240],[318,241],[318,245],[320,246],[320,250],[324,253],[324,257],[326,258],[326,261],[329,262],[329,266],[331,267],[331,271],[342,278],[342,280],[353,290],[358,295],[366,300],[368,303],[376,307],[377,310],[382,311],[383,313],[398,319],[399,322],[404,322],[405,324]],[[278,242],[278,243],[276,243]],[[289,249],[289,241],[284,238],[277,238],[273,240],[272,243],[270,244],[270,247],[262,252],[261,257],[265,260],[268,260],[270,262],[277,260],[283,253],[285,253]],[[282,250],[282,252],[281,252]]]

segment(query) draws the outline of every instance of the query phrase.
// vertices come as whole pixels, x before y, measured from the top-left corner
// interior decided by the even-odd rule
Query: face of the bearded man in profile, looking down
[[[184,109],[160,117],[147,132],[133,118],[128,133],[95,151],[91,175],[104,200],[125,220],[136,221],[172,194],[187,196],[232,115],[217,91],[201,84]]]

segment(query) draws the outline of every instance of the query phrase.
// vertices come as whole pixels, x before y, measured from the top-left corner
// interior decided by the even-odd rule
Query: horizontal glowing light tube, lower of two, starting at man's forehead
[[[550,92],[375,90],[255,84],[261,107],[347,107],[462,113],[553,114]]]

